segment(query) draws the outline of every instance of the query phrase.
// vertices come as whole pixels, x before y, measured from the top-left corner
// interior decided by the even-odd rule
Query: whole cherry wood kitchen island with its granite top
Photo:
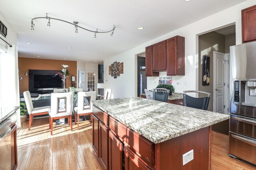
[[[210,169],[210,126],[229,119],[138,97],[92,102],[92,145],[104,169]]]

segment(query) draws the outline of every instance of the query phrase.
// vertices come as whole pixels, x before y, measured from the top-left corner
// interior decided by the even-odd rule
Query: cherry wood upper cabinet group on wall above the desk
[[[146,47],[146,76],[185,75],[185,38],[175,36]]]

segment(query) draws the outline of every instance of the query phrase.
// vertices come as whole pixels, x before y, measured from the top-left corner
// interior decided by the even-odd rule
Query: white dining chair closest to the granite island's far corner
[[[92,92],[78,92],[78,104],[75,107],[75,124],[77,119],[77,130],[79,130],[79,116],[91,115],[92,121],[92,100],[96,100],[97,93]]]

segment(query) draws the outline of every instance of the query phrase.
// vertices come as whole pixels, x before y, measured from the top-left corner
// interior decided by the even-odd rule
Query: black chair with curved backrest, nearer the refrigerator
[[[198,95],[203,94],[203,95],[206,95],[207,97],[194,98],[192,96],[187,95],[186,93],[198,93]],[[210,95],[211,95],[210,93],[196,91],[196,90],[184,91],[183,92],[184,106],[207,110],[209,101],[210,101]]]

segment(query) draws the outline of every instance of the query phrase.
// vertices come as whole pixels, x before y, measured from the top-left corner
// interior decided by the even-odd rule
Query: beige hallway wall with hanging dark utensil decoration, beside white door
[[[208,110],[213,111],[213,51],[225,53],[225,36],[214,31],[198,37],[198,90],[211,94]],[[210,56],[210,85],[202,86],[202,57]]]

